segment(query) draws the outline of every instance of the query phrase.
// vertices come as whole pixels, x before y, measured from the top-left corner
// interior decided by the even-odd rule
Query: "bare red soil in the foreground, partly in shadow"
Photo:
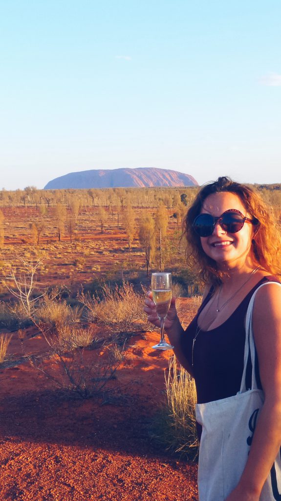
[[[169,357],[151,349],[158,334],[131,338],[103,404],[58,390],[28,362],[12,366],[47,351],[32,328],[25,334],[21,346],[13,333],[12,357],[0,366],[1,501],[196,501],[196,465],[149,434]]]

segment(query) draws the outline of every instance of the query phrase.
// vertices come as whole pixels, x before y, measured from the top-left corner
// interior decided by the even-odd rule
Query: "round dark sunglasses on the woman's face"
[[[258,224],[258,220],[254,217],[249,219],[237,209],[225,210],[220,216],[214,217],[210,214],[199,214],[195,217],[192,227],[199,236],[209,236],[214,230],[216,222],[219,223],[222,229],[227,233],[237,233],[242,229],[244,222]]]

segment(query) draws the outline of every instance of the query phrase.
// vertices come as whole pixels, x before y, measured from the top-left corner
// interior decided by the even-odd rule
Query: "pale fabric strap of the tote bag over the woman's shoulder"
[[[247,362],[248,362],[248,356],[250,354],[250,359],[251,359],[251,389],[257,389],[257,384],[256,384],[256,377],[255,377],[255,346],[254,346],[254,340],[253,340],[253,332],[252,332],[252,310],[253,310],[253,303],[254,303],[254,298],[257,293],[257,291],[263,287],[264,285],[267,284],[277,284],[281,286],[278,282],[264,282],[264,284],[261,284],[253,293],[247,313],[246,313],[246,321],[245,321],[245,331],[246,331],[246,337],[245,337],[245,348],[244,348],[244,368],[243,368],[243,374],[242,374],[242,380],[241,380],[241,386],[240,386],[240,392],[243,393],[246,391],[246,369],[247,369]]]

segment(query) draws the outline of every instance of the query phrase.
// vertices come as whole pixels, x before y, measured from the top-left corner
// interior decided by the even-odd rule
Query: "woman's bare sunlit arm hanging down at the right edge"
[[[226,501],[258,501],[281,444],[281,287],[256,294],[253,333],[265,395],[244,471]]]

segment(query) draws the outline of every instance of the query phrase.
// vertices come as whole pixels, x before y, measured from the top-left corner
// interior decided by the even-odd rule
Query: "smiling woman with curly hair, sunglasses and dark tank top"
[[[260,284],[279,282],[281,240],[259,195],[227,177],[219,177],[200,189],[185,218],[185,235],[187,262],[205,284],[202,304],[184,332],[173,298],[165,331],[177,359],[195,379],[198,403],[204,403],[235,395],[240,389],[245,314]],[[246,465],[227,501],[258,501],[280,447],[280,305],[278,284],[257,291],[252,328],[257,379],[265,401]],[[144,311],[148,320],[159,326],[151,293]]]

